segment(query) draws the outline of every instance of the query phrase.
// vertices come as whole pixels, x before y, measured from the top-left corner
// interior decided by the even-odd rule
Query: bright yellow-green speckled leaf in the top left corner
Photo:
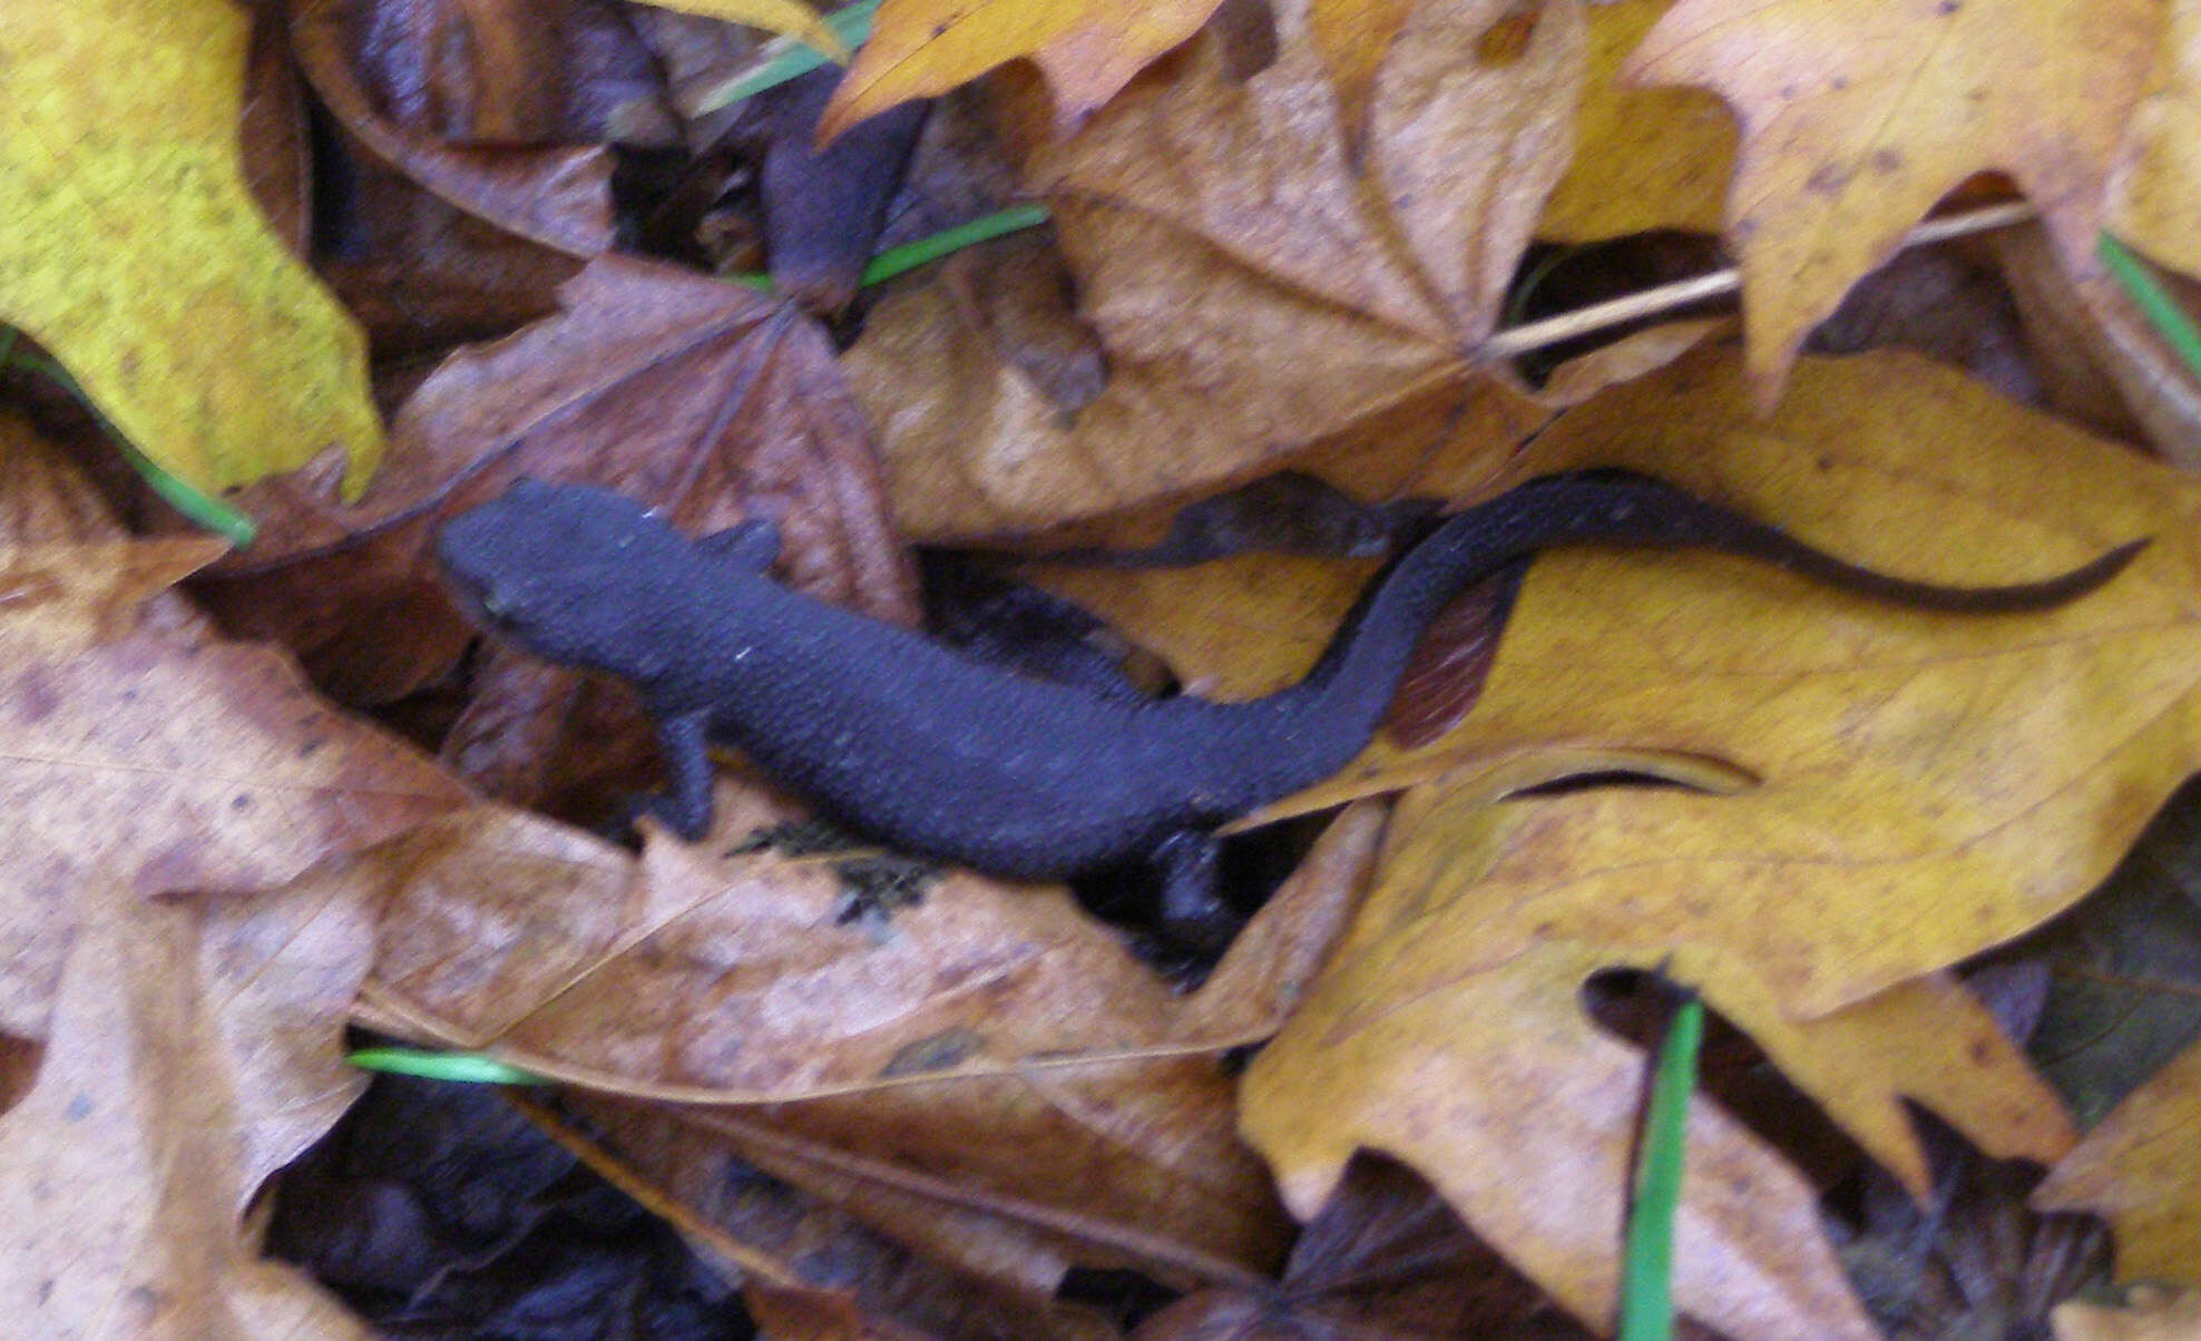
[[[0,0],[0,319],[200,489],[381,451],[365,341],[266,229],[238,161],[227,0]]]

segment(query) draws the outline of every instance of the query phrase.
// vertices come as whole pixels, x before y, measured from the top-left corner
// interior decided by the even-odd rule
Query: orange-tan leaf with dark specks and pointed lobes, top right
[[[1679,0],[1627,75],[1741,121],[1728,242],[1761,407],[1803,337],[1963,178],[2001,170],[2073,273],[2161,37],[2155,0]],[[2012,75],[2023,70],[2023,75]]]

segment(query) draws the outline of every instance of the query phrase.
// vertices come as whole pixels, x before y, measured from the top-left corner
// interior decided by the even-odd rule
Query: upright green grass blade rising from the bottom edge
[[[1688,1094],[1697,1088],[1697,1050],[1704,1046],[1704,1002],[1690,995],[1673,1015],[1651,1081],[1635,1163],[1635,1204],[1620,1275],[1620,1341],[1673,1337],[1673,1215],[1682,1204],[1682,1165],[1688,1152]]]

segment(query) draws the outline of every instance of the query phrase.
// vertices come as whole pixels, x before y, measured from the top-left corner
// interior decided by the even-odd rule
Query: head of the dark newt
[[[665,592],[696,562],[691,542],[632,498],[528,478],[445,522],[436,559],[475,623],[614,674],[634,674],[663,641]]]

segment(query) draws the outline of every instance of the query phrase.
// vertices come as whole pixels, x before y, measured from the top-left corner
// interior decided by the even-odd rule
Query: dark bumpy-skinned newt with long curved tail
[[[768,579],[768,522],[689,539],[583,484],[519,480],[451,520],[438,557],[489,630],[634,683],[671,775],[649,808],[682,837],[711,824],[707,744],[733,744],[834,819],[924,857],[1012,879],[1153,861],[1164,916],[1197,931],[1219,912],[1211,830],[1343,768],[1444,603],[1563,544],[1712,548],[1902,606],[2014,612],[2095,590],[2146,542],[2045,581],[1932,586],[1655,480],[1558,476],[1448,517],[1371,584],[1301,683],[1250,702],[1129,700],[995,669]]]

